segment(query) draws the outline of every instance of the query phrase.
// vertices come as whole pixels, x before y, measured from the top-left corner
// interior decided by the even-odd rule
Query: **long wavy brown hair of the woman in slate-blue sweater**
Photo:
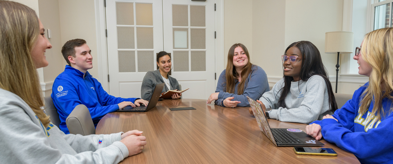
[[[226,82],[224,82],[224,84],[222,85],[223,86],[226,85],[225,92],[236,94],[235,86],[238,81],[237,76],[239,76],[239,74],[237,74],[236,72],[235,67],[233,66],[233,55],[235,53],[236,47],[241,47],[244,53],[246,53],[248,58],[247,64],[242,69],[242,73],[241,73],[242,81],[239,83],[239,85],[237,85],[237,94],[241,95],[244,92],[244,86],[247,85],[245,79],[247,79],[247,77],[251,74],[253,68],[253,64],[250,63],[250,54],[248,53],[246,46],[244,46],[241,43],[233,44],[233,46],[231,46],[231,48],[229,49],[228,63],[226,64],[226,71],[225,71]]]

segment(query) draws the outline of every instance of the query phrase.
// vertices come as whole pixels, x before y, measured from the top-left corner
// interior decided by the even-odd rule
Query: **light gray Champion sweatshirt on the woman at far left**
[[[129,153],[121,134],[65,135],[53,124],[44,128],[26,102],[0,88],[0,163],[114,164]]]

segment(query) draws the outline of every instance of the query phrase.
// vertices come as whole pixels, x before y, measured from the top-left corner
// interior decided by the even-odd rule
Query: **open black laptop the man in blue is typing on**
[[[156,107],[158,99],[160,98],[162,88],[164,88],[165,83],[157,84],[156,87],[154,88],[153,94],[151,95],[150,101],[147,104],[147,107],[143,104],[141,104],[140,107],[131,107],[127,106],[124,107],[123,109],[118,110],[118,112],[147,112],[150,109]]]

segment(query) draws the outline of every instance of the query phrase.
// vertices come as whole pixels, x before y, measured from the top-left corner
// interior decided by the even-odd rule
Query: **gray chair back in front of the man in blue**
[[[95,134],[95,127],[89,110],[83,104],[77,105],[66,119],[71,134],[83,136]]]

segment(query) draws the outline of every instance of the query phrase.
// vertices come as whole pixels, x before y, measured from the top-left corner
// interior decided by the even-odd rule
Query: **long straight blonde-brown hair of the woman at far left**
[[[47,127],[37,70],[31,50],[39,36],[35,11],[23,4],[0,1],[0,88],[18,95]]]

